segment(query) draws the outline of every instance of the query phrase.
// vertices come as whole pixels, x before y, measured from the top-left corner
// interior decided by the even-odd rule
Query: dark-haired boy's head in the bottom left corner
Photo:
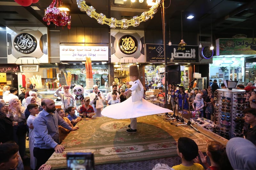
[[[19,146],[15,143],[0,144],[0,169],[16,169],[19,163]]]

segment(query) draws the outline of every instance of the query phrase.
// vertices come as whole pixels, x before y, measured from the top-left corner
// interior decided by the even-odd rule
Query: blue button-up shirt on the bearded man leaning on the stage
[[[45,110],[40,112],[34,122],[35,143],[34,146],[40,149],[55,148],[59,142],[59,127],[58,125],[71,130],[68,123],[63,120],[57,111],[49,114]]]

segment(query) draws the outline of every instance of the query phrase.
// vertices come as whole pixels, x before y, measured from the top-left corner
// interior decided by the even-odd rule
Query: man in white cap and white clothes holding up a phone
[[[93,115],[92,117],[102,117],[101,111],[103,108],[96,109],[96,104],[94,104],[95,99],[101,100],[102,103],[105,102],[104,96],[102,95],[102,93],[100,93],[100,91],[98,91],[97,84],[93,85],[93,93],[91,93],[90,95],[90,105],[92,105],[93,110],[95,112],[95,115]]]

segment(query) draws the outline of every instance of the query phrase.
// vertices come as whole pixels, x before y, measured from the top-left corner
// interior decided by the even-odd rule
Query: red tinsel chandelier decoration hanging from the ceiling
[[[71,16],[69,16],[69,9],[61,8],[62,6],[62,0],[53,0],[51,5],[45,10],[43,20],[47,22],[47,25],[50,25],[51,22],[53,22],[56,26],[65,27],[67,25],[68,29],[70,29]]]

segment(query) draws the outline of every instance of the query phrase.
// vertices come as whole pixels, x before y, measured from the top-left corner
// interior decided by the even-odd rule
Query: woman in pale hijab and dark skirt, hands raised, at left
[[[9,114],[12,112],[14,121],[18,124],[13,126],[13,140],[19,145],[19,152],[21,158],[25,158],[26,150],[26,117],[25,107],[21,106],[19,99],[12,98],[9,100]]]

